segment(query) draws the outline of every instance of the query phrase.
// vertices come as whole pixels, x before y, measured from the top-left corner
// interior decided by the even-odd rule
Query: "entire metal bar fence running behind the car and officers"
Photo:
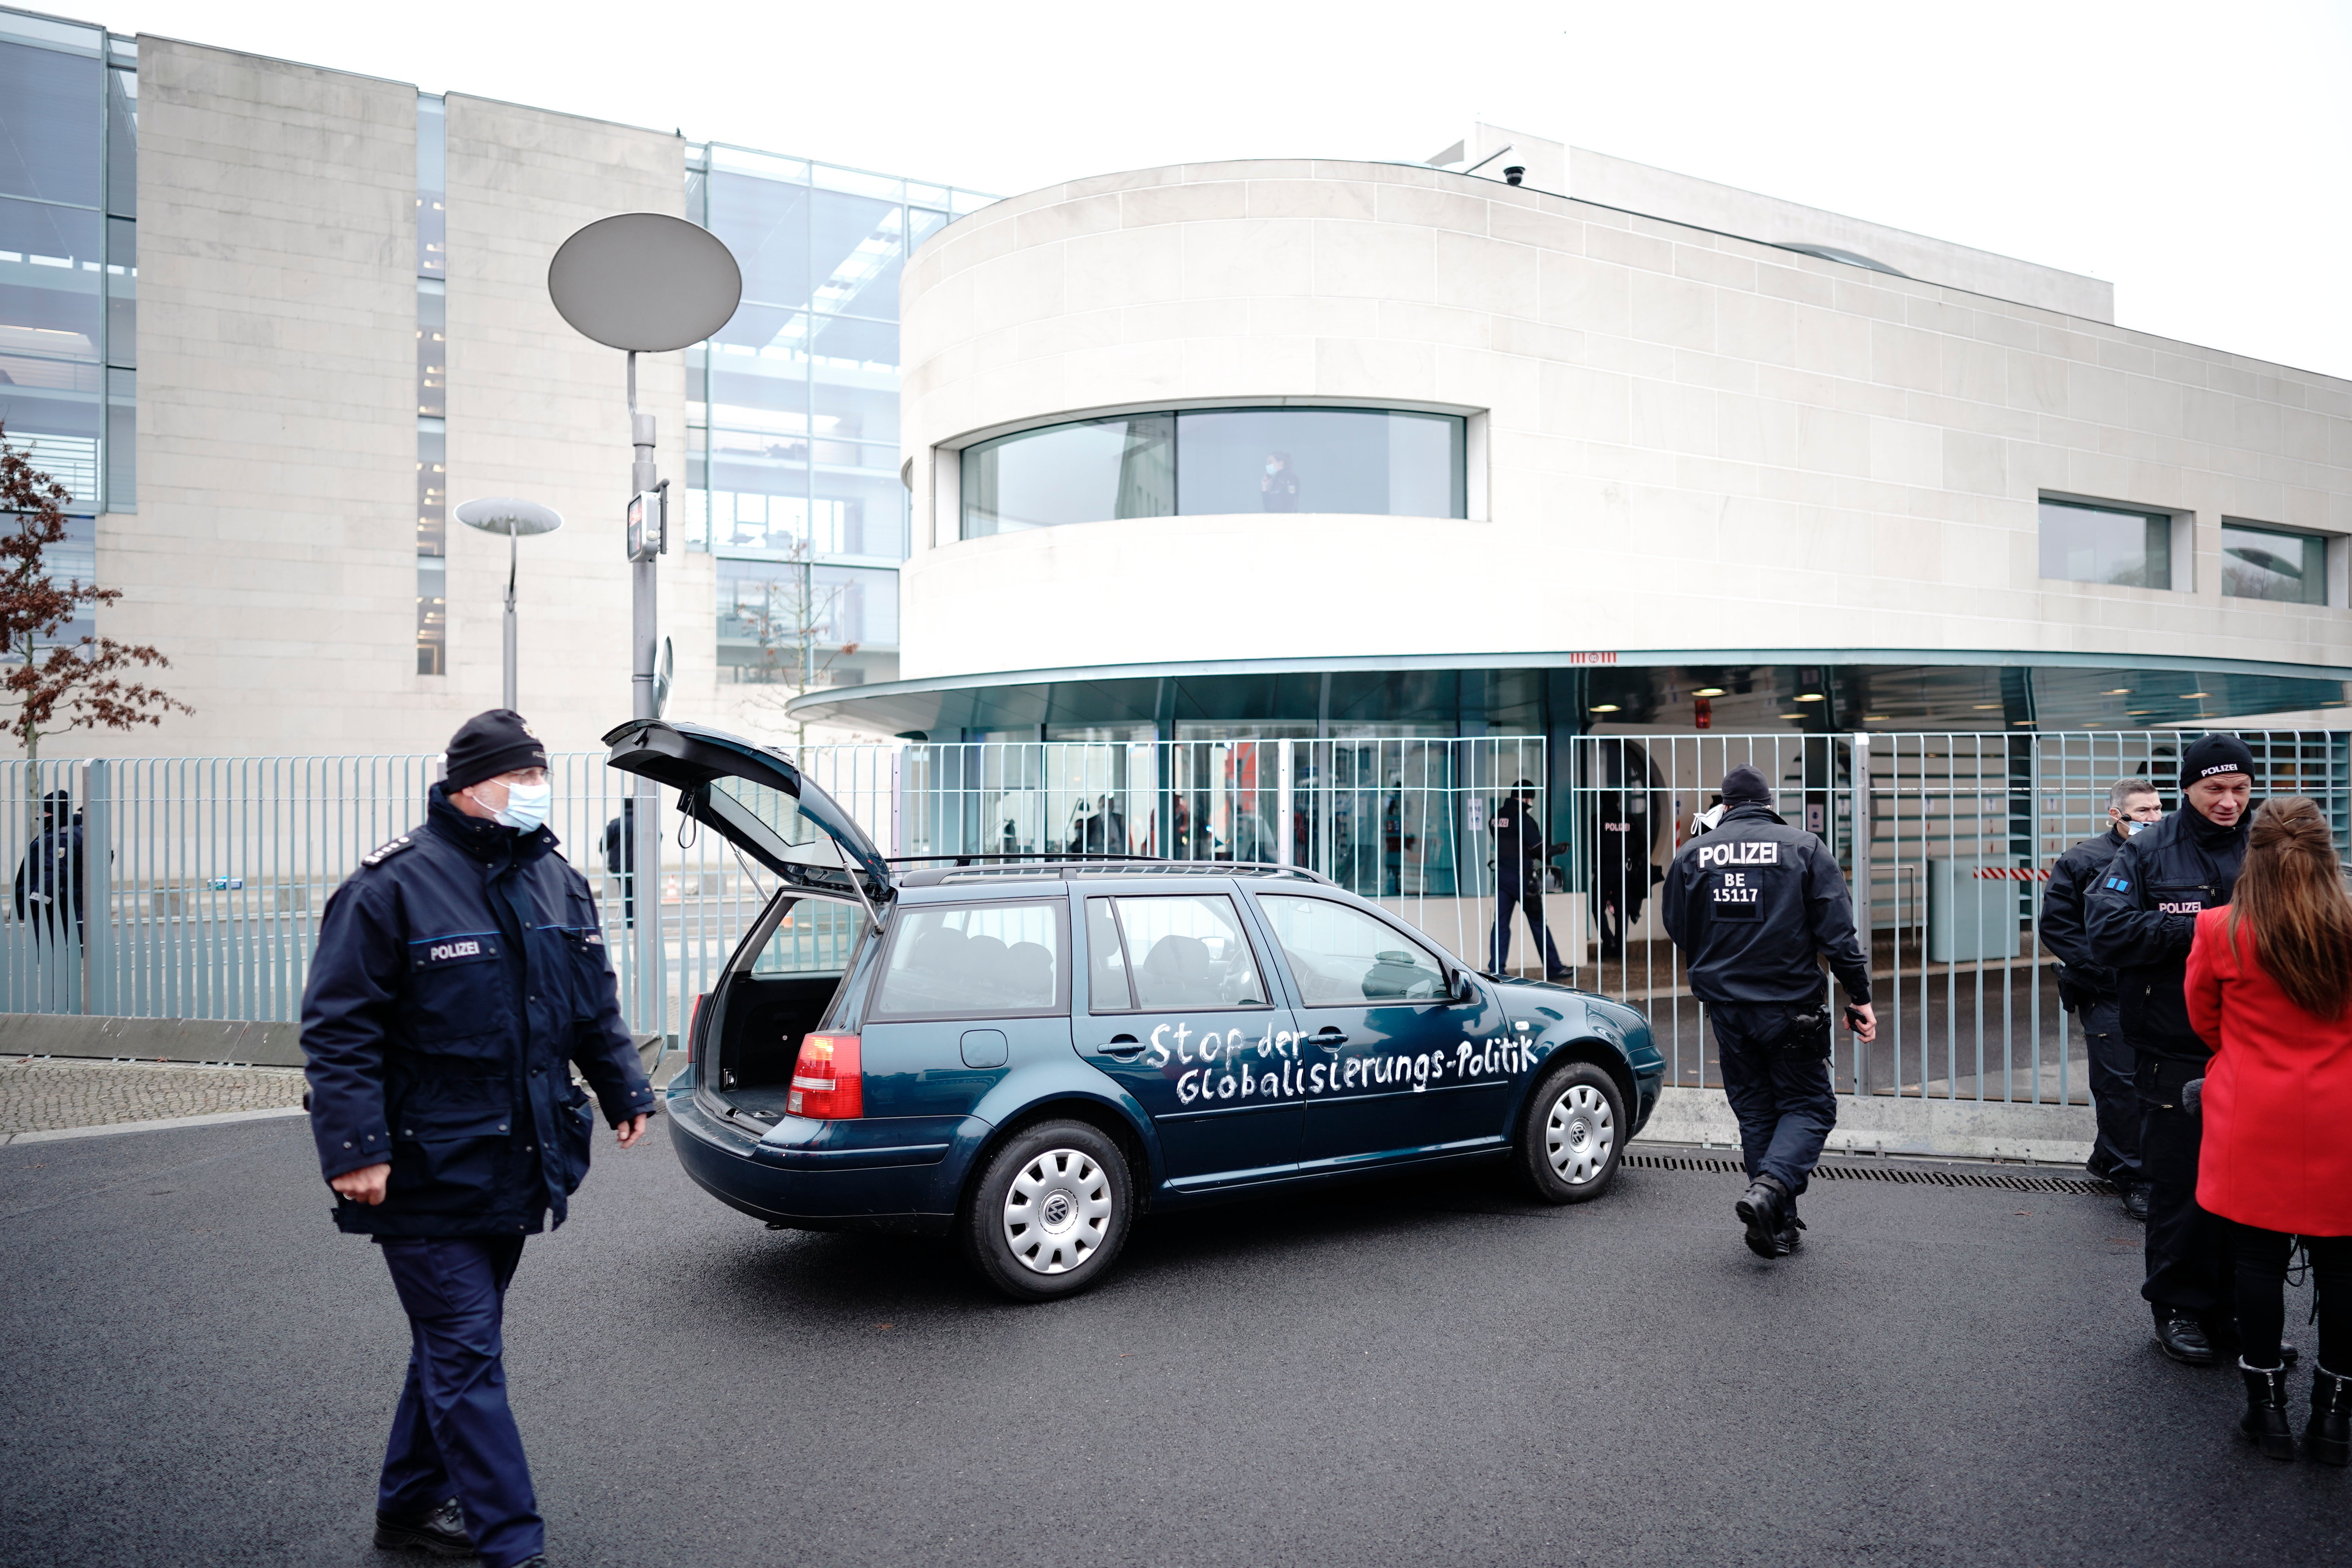
[[[1531,736],[811,745],[800,766],[891,856],[1138,853],[1301,865],[1494,966],[1494,811],[1548,809],[1559,957],[1644,1006],[1670,1081],[1715,1084],[1703,1009],[1658,929],[1656,884],[1724,771],[1757,766],[1818,832],[1870,933],[1879,1039],[1849,1037],[1846,1093],[2084,1103],[2056,964],[2032,936],[2051,860],[2105,825],[2114,778],[2171,804],[2183,731]],[[2246,733],[2258,795],[2326,804],[2352,839],[2352,736]],[[633,1027],[675,1037],[774,879],[675,795],[550,759],[553,830],[588,879]],[[0,1011],[292,1020],[327,896],[423,818],[437,757],[141,757],[0,764]],[[640,813],[659,882],[640,898]],[[101,853],[103,851],[103,853]],[[837,933],[833,933],[837,936]],[[811,929],[811,940],[823,933]],[[826,938],[830,940],[830,938]],[[1524,919],[1503,966],[1543,973]]]

